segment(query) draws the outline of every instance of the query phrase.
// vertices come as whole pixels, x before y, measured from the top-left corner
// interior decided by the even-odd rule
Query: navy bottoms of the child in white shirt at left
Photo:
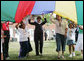
[[[20,42],[20,53],[19,58],[23,58],[29,52],[28,41]]]

